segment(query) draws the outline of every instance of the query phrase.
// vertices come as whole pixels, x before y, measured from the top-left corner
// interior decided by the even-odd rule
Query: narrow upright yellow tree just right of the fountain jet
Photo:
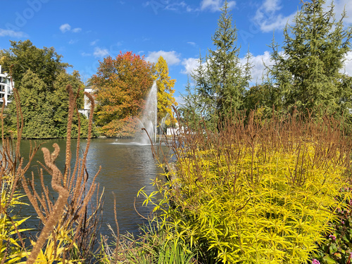
[[[177,106],[177,103],[173,96],[175,89],[172,88],[175,86],[176,80],[170,78],[168,63],[162,56],[158,58],[158,62],[154,66],[153,80],[156,80],[158,87],[158,122],[161,122],[161,119],[167,114],[173,118],[172,105]],[[170,125],[170,119],[167,120],[167,125]]]

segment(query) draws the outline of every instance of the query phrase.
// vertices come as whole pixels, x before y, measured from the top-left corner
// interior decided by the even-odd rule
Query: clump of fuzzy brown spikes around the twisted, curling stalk
[[[26,263],[35,263],[39,259],[38,256],[44,256],[43,249],[47,246],[53,246],[50,251],[56,255],[44,256],[50,260],[59,260],[66,263],[71,263],[77,260],[83,260],[93,256],[93,247],[96,241],[96,233],[98,229],[99,208],[102,205],[102,195],[99,195],[99,184],[95,183],[96,176],[99,171],[88,182],[88,174],[86,170],[87,152],[89,149],[91,132],[92,132],[92,116],[94,111],[94,99],[90,94],[88,96],[91,101],[91,118],[89,119],[89,130],[87,145],[83,156],[80,158],[80,140],[77,140],[77,152],[75,155],[75,165],[71,170],[71,132],[72,120],[75,113],[75,101],[77,96],[73,94],[73,89],[68,85],[66,90],[69,94],[69,110],[68,110],[68,127],[65,149],[65,168],[63,172],[58,169],[55,160],[60,153],[57,144],[54,144],[54,151],[42,148],[44,155],[44,170],[51,175],[51,187],[58,193],[58,199],[54,202],[49,199],[49,189],[44,186],[43,170],[40,172],[42,194],[39,194],[34,189],[34,177],[32,180],[26,179],[25,175],[21,175],[23,189],[28,196],[31,205],[37,212],[39,219],[44,225],[42,232],[38,235],[36,241],[32,241],[33,248],[28,254]],[[80,124],[80,116],[76,111]],[[80,127],[80,125],[79,125]],[[80,128],[79,128],[80,129]],[[87,207],[92,206],[92,196],[96,194],[95,208],[92,208],[92,215],[87,215]],[[64,236],[63,236],[64,234]],[[61,243],[61,248],[58,248],[58,243],[54,239],[61,237],[64,243]],[[60,239],[58,239],[59,241]],[[54,241],[54,243],[53,243]],[[61,254],[57,254],[58,251]],[[49,251],[46,251],[49,252]],[[73,259],[75,256],[76,259]]]

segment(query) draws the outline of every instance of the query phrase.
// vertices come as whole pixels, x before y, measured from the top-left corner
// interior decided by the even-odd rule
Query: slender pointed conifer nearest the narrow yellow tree
[[[199,59],[200,66],[192,77],[196,91],[203,99],[208,115],[220,115],[238,110],[243,106],[243,96],[249,86],[251,68],[243,67],[237,46],[237,29],[232,23],[232,15],[225,1],[221,8],[218,29],[212,37],[215,49],[208,50],[205,61]]]

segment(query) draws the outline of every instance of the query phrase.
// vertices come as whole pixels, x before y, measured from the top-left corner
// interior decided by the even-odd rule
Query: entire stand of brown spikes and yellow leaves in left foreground
[[[77,150],[75,153],[75,164],[72,165],[71,153],[71,134],[74,115],[78,119],[78,134],[80,134],[80,115],[77,111],[77,95],[73,94],[70,85],[66,87],[69,94],[68,127],[65,149],[65,168],[61,171],[56,166],[56,158],[60,153],[57,144],[54,144],[54,151],[42,148],[44,164],[39,170],[40,182],[34,181],[32,177],[27,178],[27,171],[33,161],[34,155],[39,151],[40,145],[30,144],[30,154],[25,163],[25,158],[20,154],[21,134],[23,128],[23,115],[20,108],[20,97],[17,89],[14,91],[14,102],[17,106],[17,135],[16,142],[11,138],[4,137],[4,105],[1,108],[1,127],[2,127],[2,149],[1,168],[0,168],[0,189],[7,188],[10,191],[6,199],[11,201],[11,206],[18,206],[20,203],[20,191],[24,191],[37,213],[42,226],[41,231],[32,236],[30,244],[32,247],[26,248],[25,238],[21,237],[19,225],[25,219],[15,218],[14,210],[6,210],[6,201],[3,201],[4,191],[2,191],[0,214],[1,230],[4,233],[4,225],[10,229],[11,235],[16,234],[17,239],[11,240],[11,252],[4,250],[1,244],[1,263],[86,263],[92,262],[94,258],[94,245],[97,243],[96,236],[99,231],[99,218],[103,205],[103,194],[99,192],[99,184],[95,183],[99,171],[89,179],[86,170],[87,153],[92,137],[92,117],[94,112],[94,99],[85,93],[91,101],[91,111],[89,118],[88,138],[82,157],[80,157],[80,138],[77,139]],[[15,146],[13,148],[13,145]],[[56,191],[58,198],[52,199],[49,187],[44,184],[44,172],[51,175],[51,188]],[[42,191],[37,191],[34,187],[38,185]],[[95,199],[92,200],[95,195]],[[88,207],[91,213],[88,214]],[[11,224],[11,225],[10,225]]]

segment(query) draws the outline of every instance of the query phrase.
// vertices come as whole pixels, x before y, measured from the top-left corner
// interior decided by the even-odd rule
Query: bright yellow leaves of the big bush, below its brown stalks
[[[244,155],[228,161],[226,151]],[[225,262],[306,262],[322,242],[322,230],[329,231],[332,211],[342,206],[334,197],[346,168],[334,161],[327,168],[311,163],[314,144],[292,153],[272,151],[265,162],[258,147],[253,162],[251,151],[238,146],[219,152],[196,153],[202,175],[194,158],[178,161],[182,177],[187,177],[187,182],[180,180],[187,197],[179,196],[187,205],[182,210],[193,219],[184,221],[184,228],[195,229],[196,239],[206,237]]]

